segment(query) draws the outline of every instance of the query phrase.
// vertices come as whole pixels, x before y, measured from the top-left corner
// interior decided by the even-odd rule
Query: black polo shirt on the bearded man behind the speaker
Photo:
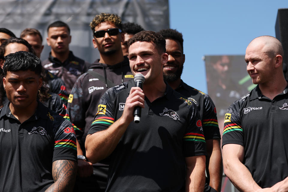
[[[202,120],[205,140],[221,139],[216,107],[209,95],[190,87],[182,80],[179,87],[176,88],[175,91],[192,100],[197,105]]]

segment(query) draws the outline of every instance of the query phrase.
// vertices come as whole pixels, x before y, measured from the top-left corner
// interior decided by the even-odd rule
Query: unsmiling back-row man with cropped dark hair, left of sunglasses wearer
[[[70,93],[77,78],[87,70],[89,64],[73,55],[69,50],[71,35],[69,26],[62,21],[55,21],[47,28],[47,44],[51,46],[49,58],[42,65],[50,73],[60,77]]]

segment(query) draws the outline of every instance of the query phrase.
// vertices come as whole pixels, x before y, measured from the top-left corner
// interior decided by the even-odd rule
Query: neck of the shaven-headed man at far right
[[[283,90],[287,86],[287,81],[285,80],[283,73],[280,75],[281,78],[275,78],[273,81],[259,84],[259,89],[262,95],[265,95],[269,99],[273,100],[274,97],[283,93]]]

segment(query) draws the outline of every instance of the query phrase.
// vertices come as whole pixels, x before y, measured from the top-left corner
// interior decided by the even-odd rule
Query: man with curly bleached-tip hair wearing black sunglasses
[[[77,79],[69,95],[67,110],[80,143],[77,146],[78,155],[82,155],[78,160],[79,176],[75,190],[104,191],[108,164],[105,161],[94,164],[93,171],[92,164],[85,158],[85,138],[98,109],[103,110],[103,113],[105,111],[105,107],[98,106],[104,92],[130,80],[133,75],[129,60],[122,53],[121,42],[124,41],[124,34],[121,18],[115,14],[101,13],[94,17],[90,27],[93,45],[98,49],[100,59],[91,64],[89,70]]]

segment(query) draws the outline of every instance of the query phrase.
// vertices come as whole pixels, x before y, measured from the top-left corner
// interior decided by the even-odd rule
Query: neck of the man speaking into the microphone
[[[162,97],[166,91],[166,84],[162,80],[160,82],[149,83],[143,85],[144,95],[152,103],[155,99]]]

